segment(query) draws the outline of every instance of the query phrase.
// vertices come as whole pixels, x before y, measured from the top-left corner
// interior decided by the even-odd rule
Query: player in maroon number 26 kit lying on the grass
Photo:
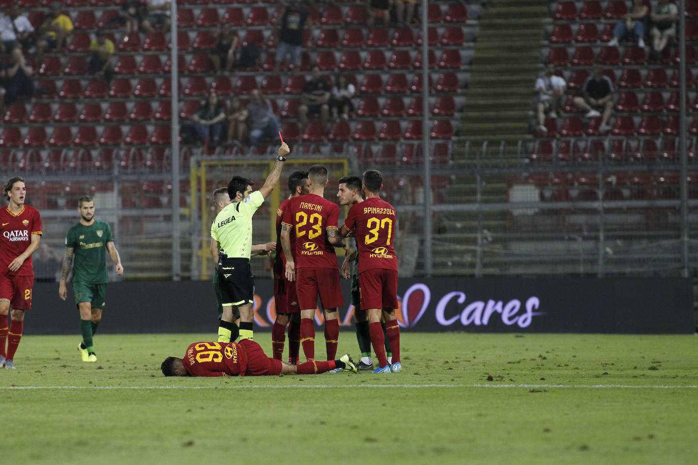
[[[168,357],[161,365],[165,376],[260,376],[278,374],[319,374],[343,368],[357,373],[348,355],[327,362],[311,361],[288,365],[265,355],[260,344],[248,339],[235,342],[194,342],[184,358]]]

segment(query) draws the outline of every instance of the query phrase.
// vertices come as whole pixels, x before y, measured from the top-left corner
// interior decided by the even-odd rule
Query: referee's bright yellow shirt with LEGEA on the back
[[[226,205],[216,216],[211,224],[211,238],[221,244],[228,258],[250,258],[252,216],[263,203],[262,192],[255,190],[246,199]]]

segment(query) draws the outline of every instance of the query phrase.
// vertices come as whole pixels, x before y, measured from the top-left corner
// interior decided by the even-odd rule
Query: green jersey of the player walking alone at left
[[[73,247],[73,282],[103,284],[107,278],[107,243],[113,242],[107,222],[94,220],[91,226],[75,224],[68,230],[66,247]]]

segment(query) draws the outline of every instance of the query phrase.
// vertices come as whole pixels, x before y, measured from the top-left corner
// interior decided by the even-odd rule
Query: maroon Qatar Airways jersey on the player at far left
[[[22,211],[15,215],[10,212],[10,207],[0,208],[0,270],[8,273],[10,262],[16,259],[31,243],[32,234],[43,234],[41,231],[41,215],[39,211],[29,205],[24,205]],[[24,260],[17,276],[32,276],[34,268],[31,266],[31,257]]]

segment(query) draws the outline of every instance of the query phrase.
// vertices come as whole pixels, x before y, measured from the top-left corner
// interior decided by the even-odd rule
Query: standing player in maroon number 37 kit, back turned
[[[374,373],[400,372],[400,327],[395,318],[397,303],[397,257],[393,247],[396,233],[395,208],[380,199],[383,175],[376,169],[364,171],[362,188],[366,200],[352,206],[339,238],[354,231],[359,247],[359,289],[361,310],[369,312],[371,345],[380,364]],[[387,337],[392,349],[392,365],[385,354],[383,314]]]

